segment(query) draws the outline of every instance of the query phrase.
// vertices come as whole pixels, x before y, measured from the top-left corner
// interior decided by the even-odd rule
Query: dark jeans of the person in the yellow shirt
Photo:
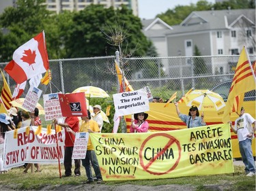
[[[94,168],[94,172],[96,174],[97,179],[102,180],[102,175],[100,173],[100,166],[98,164],[98,160],[96,158],[96,154],[94,150],[87,150],[85,159],[82,159],[82,165],[83,167],[85,167],[85,172],[89,181],[94,180],[91,173],[91,165]]]

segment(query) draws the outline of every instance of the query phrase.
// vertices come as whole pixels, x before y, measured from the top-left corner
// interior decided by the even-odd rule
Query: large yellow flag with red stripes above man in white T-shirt
[[[223,123],[230,121],[232,112],[240,112],[242,103],[244,102],[244,93],[255,90],[256,79],[253,73],[253,67],[248,58],[246,48],[243,47],[236,65],[235,75],[229,90],[229,97],[223,114]]]

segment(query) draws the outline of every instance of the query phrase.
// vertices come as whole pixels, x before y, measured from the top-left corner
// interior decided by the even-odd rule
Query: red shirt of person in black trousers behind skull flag
[[[74,132],[79,132],[79,118],[77,117],[67,117],[65,123],[70,126],[70,128]],[[74,146],[74,135],[72,133],[68,133],[65,128],[65,146],[66,147],[73,147]]]

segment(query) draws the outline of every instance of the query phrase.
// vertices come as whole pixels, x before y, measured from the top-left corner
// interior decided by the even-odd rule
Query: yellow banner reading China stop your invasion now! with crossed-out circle
[[[89,136],[104,181],[233,173],[229,124]]]

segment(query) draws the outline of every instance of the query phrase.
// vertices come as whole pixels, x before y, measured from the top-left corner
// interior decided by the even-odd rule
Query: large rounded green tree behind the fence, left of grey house
[[[102,5],[89,5],[80,12],[75,13],[73,23],[70,24],[66,42],[67,57],[91,57],[113,55],[118,48],[106,41],[106,34],[111,36],[116,26],[127,38],[123,42],[124,50],[134,56],[145,55],[149,41],[141,32],[141,20],[132,14],[127,7],[113,10],[113,7],[104,8]]]

